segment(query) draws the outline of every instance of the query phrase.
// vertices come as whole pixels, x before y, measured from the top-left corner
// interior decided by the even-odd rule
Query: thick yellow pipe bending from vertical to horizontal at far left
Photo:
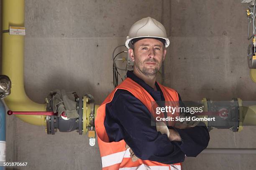
[[[24,0],[3,0],[2,29],[10,26],[24,27]],[[24,89],[24,36],[2,33],[2,67],[3,75],[11,82],[11,94],[5,103],[13,111],[46,111],[45,104],[38,104],[28,98]],[[32,125],[46,125],[45,116],[16,115],[20,120]]]

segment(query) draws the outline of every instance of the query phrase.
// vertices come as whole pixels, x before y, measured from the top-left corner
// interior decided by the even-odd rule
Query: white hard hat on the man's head
[[[165,40],[164,47],[170,44],[166,35],[164,25],[151,17],[142,18],[131,26],[128,36],[126,37],[125,46],[129,49],[129,42],[135,38],[161,38]]]

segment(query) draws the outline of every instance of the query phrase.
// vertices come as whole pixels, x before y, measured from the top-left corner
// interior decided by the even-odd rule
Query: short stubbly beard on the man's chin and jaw
[[[146,62],[154,62],[156,63],[156,66],[154,68],[147,68],[145,66]],[[136,64],[138,63],[138,64]],[[144,60],[141,62],[140,60],[137,60],[137,62],[134,62],[134,65],[140,70],[144,75],[149,75],[149,76],[155,76],[156,73],[158,72],[159,68],[162,65],[162,61],[159,63],[155,58],[149,58],[147,60]]]

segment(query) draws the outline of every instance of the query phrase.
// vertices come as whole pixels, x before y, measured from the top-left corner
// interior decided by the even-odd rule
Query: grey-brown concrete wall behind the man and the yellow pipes
[[[25,0],[25,89],[43,103],[49,91],[90,92],[101,103],[113,90],[112,52],[131,25],[151,16],[171,40],[165,85],[183,100],[254,100],[247,66],[246,5],[240,0]],[[8,117],[7,160],[26,170],[99,170],[98,147],[86,135],[46,135],[44,127]],[[255,127],[212,130],[209,148],[253,148]],[[184,170],[244,170],[255,155],[199,155]]]

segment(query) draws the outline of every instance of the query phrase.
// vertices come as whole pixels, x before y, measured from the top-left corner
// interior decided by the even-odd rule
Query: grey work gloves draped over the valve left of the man
[[[55,93],[55,94],[54,94]],[[67,118],[77,118],[79,117],[76,105],[77,103],[74,102],[74,94],[73,92],[65,92],[65,90],[54,90],[50,92],[51,96],[54,94],[53,100],[53,112],[58,112],[58,117],[61,116],[62,112],[65,112]],[[47,97],[46,102],[49,102],[50,98]]]

